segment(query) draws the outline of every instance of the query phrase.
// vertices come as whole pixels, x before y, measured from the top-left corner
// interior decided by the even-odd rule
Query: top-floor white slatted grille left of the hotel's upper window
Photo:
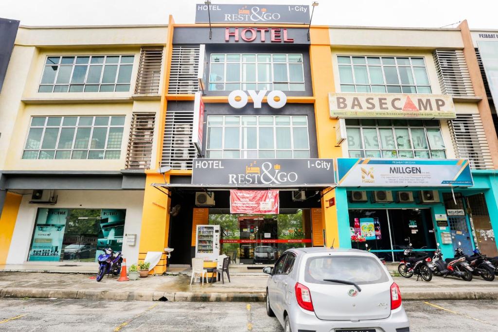
[[[170,94],[193,94],[199,91],[200,45],[173,45],[169,69]]]

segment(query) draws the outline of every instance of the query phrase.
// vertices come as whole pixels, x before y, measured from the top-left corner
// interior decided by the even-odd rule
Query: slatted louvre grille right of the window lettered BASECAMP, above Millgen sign
[[[474,169],[492,169],[493,160],[479,114],[457,114],[448,121],[458,158],[469,159]]]

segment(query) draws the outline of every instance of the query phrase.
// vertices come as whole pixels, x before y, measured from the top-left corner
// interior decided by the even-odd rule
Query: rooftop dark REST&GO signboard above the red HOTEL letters
[[[309,24],[310,8],[300,4],[196,4],[196,23],[208,23],[209,16],[211,23]]]

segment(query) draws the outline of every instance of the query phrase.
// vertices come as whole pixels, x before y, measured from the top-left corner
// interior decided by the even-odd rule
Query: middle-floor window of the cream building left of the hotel
[[[102,124],[106,117],[108,118],[107,124]],[[88,124],[90,118],[91,124]],[[49,123],[57,119],[60,119],[58,124]],[[120,159],[123,149],[124,123],[125,115],[32,116],[21,159]],[[53,147],[44,148],[47,129],[52,129],[52,137],[47,136],[47,141],[50,142],[51,139]],[[55,129],[57,133],[53,135]],[[89,132],[88,129],[90,129]],[[104,129],[105,141],[102,141]],[[61,140],[63,130],[66,130],[68,136]],[[82,136],[78,136],[79,133]],[[33,140],[31,134],[38,139]],[[110,137],[113,134],[115,137]],[[68,138],[71,136],[69,141]],[[86,144],[85,141],[87,141]],[[67,143],[71,146],[61,146]],[[81,146],[78,145],[80,143]]]

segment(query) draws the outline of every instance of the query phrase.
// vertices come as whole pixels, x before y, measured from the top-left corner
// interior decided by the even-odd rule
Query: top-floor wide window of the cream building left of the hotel
[[[72,58],[72,62],[69,60]],[[115,58],[117,62],[114,62]],[[57,62],[55,62],[57,59]],[[47,55],[43,64],[43,71],[38,84],[38,93],[74,93],[74,92],[129,92],[131,88],[133,64],[135,54],[81,54],[81,55]],[[63,63],[64,62],[64,63]],[[75,73],[77,67],[86,67],[84,75]],[[98,72],[98,67],[100,73]],[[112,67],[116,66],[114,80],[104,81],[106,68],[112,78]],[[52,72],[49,68],[52,67]],[[54,72],[54,67],[57,67]],[[71,67],[69,75],[63,82],[57,83],[61,68]],[[92,70],[95,68],[95,70]],[[124,69],[125,68],[125,69]],[[122,71],[123,69],[123,71]],[[89,74],[95,74],[93,81],[89,81]],[[123,74],[123,77],[121,77]],[[77,77],[76,75],[80,75]],[[52,77],[53,76],[53,77]],[[95,80],[98,77],[98,81]],[[120,80],[123,80],[120,82]],[[67,82],[66,82],[67,81]]]

